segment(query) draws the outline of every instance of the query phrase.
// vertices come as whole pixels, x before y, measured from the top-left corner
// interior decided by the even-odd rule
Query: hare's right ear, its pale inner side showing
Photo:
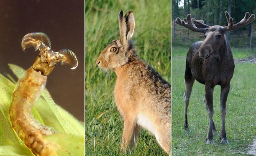
[[[129,41],[133,36],[134,28],[135,28],[135,18],[132,11],[129,11],[125,14],[125,25],[126,25],[126,41]]]

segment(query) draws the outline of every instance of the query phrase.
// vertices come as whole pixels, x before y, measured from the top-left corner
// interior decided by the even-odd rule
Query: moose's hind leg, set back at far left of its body
[[[192,87],[195,82],[195,78],[192,77],[192,75],[188,75],[185,73],[185,92],[184,92],[184,114],[185,114],[185,120],[184,120],[184,129],[188,129],[188,122],[187,122],[187,107],[189,105],[189,98],[192,92]]]

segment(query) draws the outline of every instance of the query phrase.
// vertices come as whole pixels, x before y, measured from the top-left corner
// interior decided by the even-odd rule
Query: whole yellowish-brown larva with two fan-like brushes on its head
[[[57,155],[54,145],[43,139],[43,136],[56,133],[36,120],[31,109],[46,85],[47,75],[51,73],[57,62],[67,63],[75,69],[78,65],[76,55],[71,50],[51,51],[51,42],[44,33],[28,33],[21,42],[22,49],[34,47],[40,53],[36,60],[20,78],[13,92],[9,108],[10,121],[18,137],[31,149],[33,154],[40,156]]]

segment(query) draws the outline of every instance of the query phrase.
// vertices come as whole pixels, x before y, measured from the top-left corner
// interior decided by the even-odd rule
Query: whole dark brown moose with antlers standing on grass
[[[213,110],[213,90],[216,85],[220,85],[220,113],[222,130],[220,134],[221,143],[228,144],[225,131],[226,102],[230,90],[230,80],[233,77],[235,64],[230,49],[230,44],[225,37],[225,32],[233,31],[255,20],[255,15],[249,17],[246,12],[244,18],[234,24],[233,18],[228,12],[225,12],[227,24],[225,26],[208,26],[203,20],[191,18],[188,14],[187,18],[181,20],[177,18],[175,23],[189,28],[192,31],[204,33],[205,40],[197,41],[190,46],[187,52],[186,69],[184,75],[185,92],[184,92],[184,129],[188,129],[187,107],[192,92],[195,79],[205,84],[205,107],[209,116],[209,130],[207,134],[207,144],[213,143],[212,130],[217,132],[212,120]]]

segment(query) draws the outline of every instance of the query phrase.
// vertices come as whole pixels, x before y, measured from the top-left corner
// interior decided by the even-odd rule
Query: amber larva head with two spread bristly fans
[[[51,41],[45,33],[28,33],[21,41],[23,51],[26,48],[34,47],[40,53],[33,63],[33,69],[49,75],[57,62],[67,63],[75,69],[78,65],[77,56],[68,49],[54,52],[51,49]]]

